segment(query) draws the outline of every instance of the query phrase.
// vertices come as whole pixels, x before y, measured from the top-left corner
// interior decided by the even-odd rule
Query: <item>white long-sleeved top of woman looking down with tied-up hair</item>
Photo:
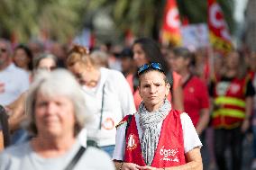
[[[85,113],[92,115],[92,121],[86,125],[87,138],[96,140],[100,147],[114,145],[115,125],[125,115],[136,112],[130,86],[121,72],[100,68],[98,85],[95,88],[84,86],[83,89],[87,108]],[[101,130],[99,130],[102,108]],[[82,130],[79,139],[83,136],[85,135]],[[84,140],[80,141],[82,145],[85,143]]]

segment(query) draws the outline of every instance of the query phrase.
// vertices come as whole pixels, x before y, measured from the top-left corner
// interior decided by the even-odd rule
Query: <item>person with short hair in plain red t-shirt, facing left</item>
[[[190,116],[199,135],[206,129],[209,119],[209,95],[205,83],[189,70],[191,53],[186,48],[173,50],[172,68],[182,76],[185,112]]]

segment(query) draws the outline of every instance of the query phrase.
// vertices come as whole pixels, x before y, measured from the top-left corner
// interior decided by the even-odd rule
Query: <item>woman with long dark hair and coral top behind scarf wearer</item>
[[[135,40],[133,43],[133,59],[136,64],[136,67],[141,67],[143,64],[148,64],[151,62],[160,63],[163,67],[163,70],[167,73],[167,78],[170,83],[170,93],[168,96],[169,101],[172,100],[173,106],[180,110],[184,110],[183,106],[183,96],[182,89],[179,85],[180,76],[177,73],[169,71],[166,61],[164,60],[163,55],[160,52],[160,47],[158,44],[149,38],[142,38]],[[139,91],[137,89],[139,78],[136,74],[128,75],[126,77],[132,92],[134,103],[136,109],[138,109],[139,104],[142,102]]]

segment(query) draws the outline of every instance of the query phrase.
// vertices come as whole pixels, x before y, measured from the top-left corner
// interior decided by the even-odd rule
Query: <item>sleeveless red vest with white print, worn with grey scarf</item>
[[[123,118],[123,121],[126,120],[127,116]],[[142,148],[134,115],[126,134],[124,162],[146,166],[142,157]],[[152,164],[149,166],[160,168],[184,164],[186,164],[186,160],[180,112],[170,111],[163,121],[159,144]]]

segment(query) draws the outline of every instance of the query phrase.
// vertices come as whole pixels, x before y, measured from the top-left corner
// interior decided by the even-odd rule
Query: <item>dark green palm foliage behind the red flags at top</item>
[[[90,6],[111,5],[116,27],[125,31],[131,29],[137,36],[153,36],[160,30],[164,5],[167,0],[98,0],[90,1]],[[233,32],[233,0],[217,0],[224,11],[225,20]],[[207,21],[207,0],[177,0],[181,18],[190,23]]]

